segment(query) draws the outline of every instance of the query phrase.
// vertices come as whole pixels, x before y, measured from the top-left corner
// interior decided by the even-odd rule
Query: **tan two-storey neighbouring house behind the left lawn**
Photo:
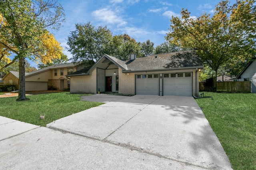
[[[75,71],[76,67],[73,63],[64,63],[29,72],[25,76],[26,91],[48,90],[50,86],[55,87],[57,90],[69,88],[70,79],[66,78],[65,75]]]

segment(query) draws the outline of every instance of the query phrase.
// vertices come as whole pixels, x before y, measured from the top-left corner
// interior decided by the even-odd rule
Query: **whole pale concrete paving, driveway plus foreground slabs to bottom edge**
[[[1,137],[0,169],[232,169],[192,97],[92,99],[108,103]]]

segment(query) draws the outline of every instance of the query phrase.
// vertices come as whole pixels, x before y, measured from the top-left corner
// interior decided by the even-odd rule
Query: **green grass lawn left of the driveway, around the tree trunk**
[[[29,101],[16,102],[17,97],[0,98],[0,115],[11,119],[46,126],[54,120],[99,106],[103,103],[80,101],[81,94],[67,92],[26,96]],[[85,95],[83,95],[85,96]],[[44,115],[44,119],[40,119]]]

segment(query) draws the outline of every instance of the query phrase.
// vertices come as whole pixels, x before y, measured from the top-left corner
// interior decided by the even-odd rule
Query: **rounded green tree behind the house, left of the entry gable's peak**
[[[107,26],[94,27],[90,22],[76,24],[76,30],[68,36],[68,51],[73,55],[72,61],[86,63],[98,60],[104,53],[108,53],[108,44],[112,33]]]

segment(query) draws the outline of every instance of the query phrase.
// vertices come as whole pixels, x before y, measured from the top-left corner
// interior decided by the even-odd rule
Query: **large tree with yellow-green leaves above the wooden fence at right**
[[[172,16],[166,40],[182,47],[196,49],[196,53],[218,74],[220,66],[232,61],[245,61],[255,55],[256,6],[255,0],[237,0],[230,6],[221,1],[214,15],[190,17],[182,9],[182,18]]]

